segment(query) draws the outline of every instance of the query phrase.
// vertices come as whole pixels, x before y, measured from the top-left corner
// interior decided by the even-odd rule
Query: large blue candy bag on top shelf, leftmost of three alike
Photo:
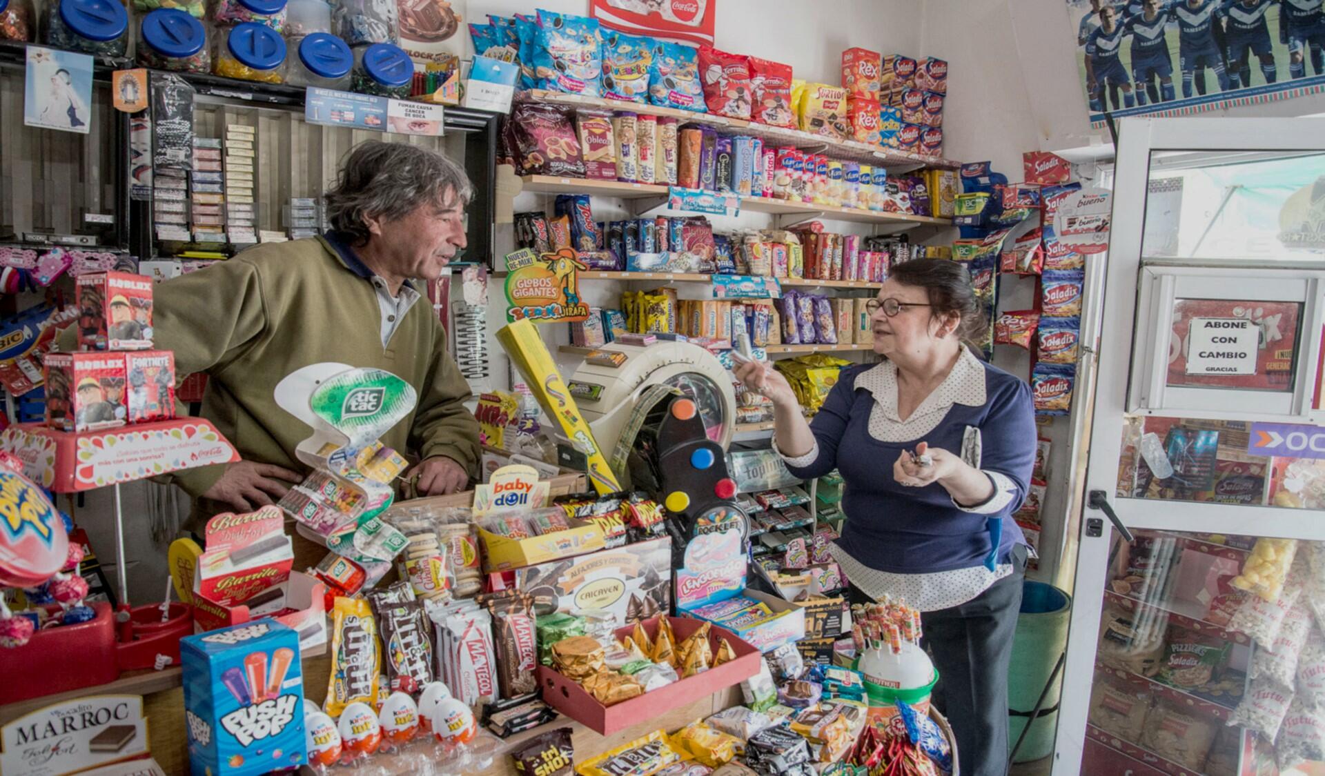
[[[602,97],[603,56],[598,30],[596,19],[539,9],[534,36],[535,87]]]

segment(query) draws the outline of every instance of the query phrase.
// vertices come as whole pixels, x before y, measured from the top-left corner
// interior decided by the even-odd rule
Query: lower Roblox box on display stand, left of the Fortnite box
[[[123,354],[46,354],[46,426],[62,432],[95,432],[122,426]]]

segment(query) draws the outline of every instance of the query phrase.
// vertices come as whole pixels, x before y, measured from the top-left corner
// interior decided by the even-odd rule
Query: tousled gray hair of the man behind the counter
[[[449,197],[468,203],[472,196],[469,176],[450,159],[382,140],[355,146],[325,195],[331,228],[351,245],[367,242],[366,218],[403,218],[420,205],[441,205]]]

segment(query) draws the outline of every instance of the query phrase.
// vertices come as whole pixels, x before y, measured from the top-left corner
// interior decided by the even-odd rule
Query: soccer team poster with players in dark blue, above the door
[[[1325,0],[1067,0],[1090,121],[1325,90]]]

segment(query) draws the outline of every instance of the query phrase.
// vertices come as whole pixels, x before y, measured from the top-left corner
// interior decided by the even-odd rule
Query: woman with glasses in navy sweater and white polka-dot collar
[[[745,363],[735,375],[772,400],[774,444],[792,474],[841,473],[847,522],[832,551],[853,597],[886,593],[921,610],[962,773],[1003,775],[1028,555],[1004,518],[1035,462],[1031,392],[962,344],[982,316],[961,264],[900,264],[871,307],[885,360],[844,369],[812,424],[775,369]]]

